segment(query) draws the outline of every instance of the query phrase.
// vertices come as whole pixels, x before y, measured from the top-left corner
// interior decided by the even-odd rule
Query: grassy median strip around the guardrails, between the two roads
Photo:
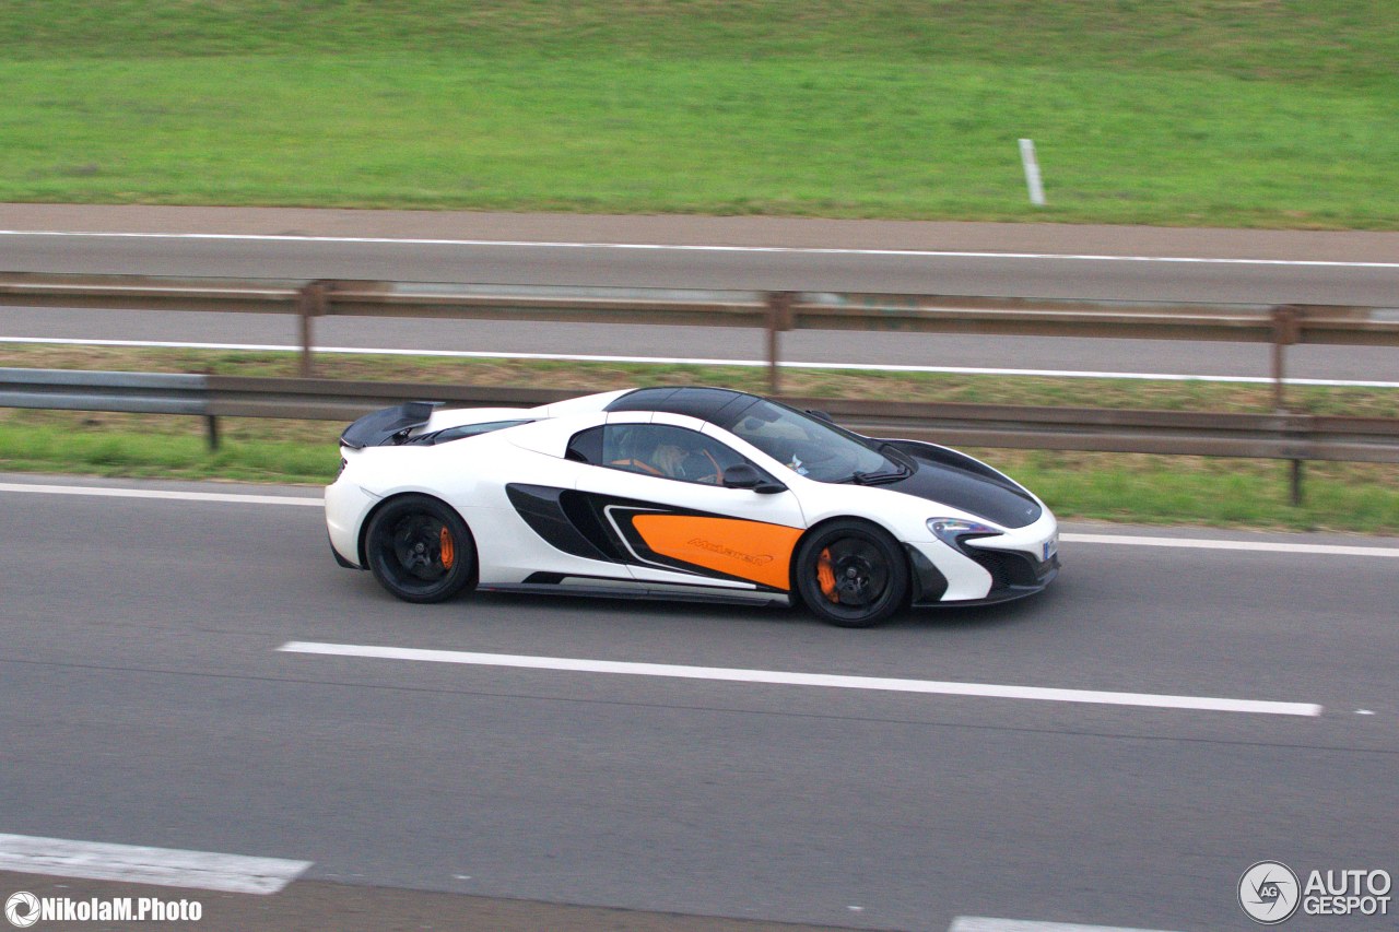
[[[27,348],[0,353],[0,365],[206,371],[291,375],[291,354],[178,350]],[[469,362],[414,357],[320,357],[334,378],[424,383],[533,385],[606,390],[628,385],[722,383],[762,390],[761,369],[616,364]],[[1266,386],[986,379],[956,375],[786,371],[793,395],[897,397],[1018,404],[1258,411],[1270,406]],[[1393,417],[1399,395],[1365,389],[1294,389],[1293,403],[1315,413]],[[343,424],[319,421],[222,421],[224,444],[210,452],[192,417],[0,411],[0,470],[78,472],[255,481],[323,483],[339,462]],[[1192,456],[1123,456],[1048,451],[972,451],[1030,484],[1065,518],[1149,523],[1207,523],[1399,532],[1399,467],[1312,463],[1307,501],[1287,504],[1286,463]]]

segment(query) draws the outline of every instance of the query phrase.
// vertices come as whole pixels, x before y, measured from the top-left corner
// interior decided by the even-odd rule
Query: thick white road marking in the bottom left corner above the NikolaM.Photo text
[[[267,894],[285,887],[311,863],[211,851],[0,834],[0,870],[88,880]]]

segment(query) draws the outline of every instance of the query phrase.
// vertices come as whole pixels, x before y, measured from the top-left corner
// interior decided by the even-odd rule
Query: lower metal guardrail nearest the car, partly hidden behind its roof
[[[218,417],[351,421],[379,407],[418,399],[459,406],[532,407],[572,395],[557,389],[409,382],[0,368],[0,406],[197,414],[208,418],[210,441],[215,445]],[[862,434],[951,445],[1399,463],[1399,418],[820,397],[783,400],[796,407],[825,410]]]

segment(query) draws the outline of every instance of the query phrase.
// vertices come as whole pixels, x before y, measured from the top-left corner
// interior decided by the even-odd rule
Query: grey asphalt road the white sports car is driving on
[[[1392,557],[1066,543],[1063,558],[1042,598],[869,631],[785,610],[409,606],[334,565],[313,507],[0,493],[0,833],[305,859],[313,882],[877,929],[1247,929],[1235,884],[1256,861],[1399,872]],[[278,652],[288,641],[1323,712]],[[1293,925],[1374,928],[1309,922]]]

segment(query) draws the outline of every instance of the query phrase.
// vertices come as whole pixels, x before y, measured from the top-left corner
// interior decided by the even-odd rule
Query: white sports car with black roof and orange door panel
[[[336,560],[409,602],[471,586],[800,602],[863,627],[1031,595],[1059,570],[1053,515],[995,469],[729,389],[411,402],[340,444]]]

